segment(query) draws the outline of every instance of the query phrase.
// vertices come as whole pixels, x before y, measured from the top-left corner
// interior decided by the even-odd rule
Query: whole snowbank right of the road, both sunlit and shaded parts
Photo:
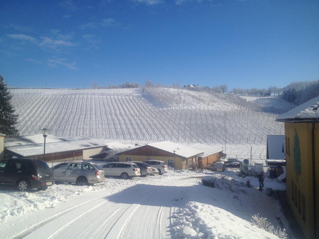
[[[246,178],[235,176],[234,171],[223,173],[224,175],[212,173],[203,177],[204,181],[213,182],[215,187],[206,187],[199,183],[202,187],[200,193],[192,194],[189,202],[175,209],[172,222],[175,238],[278,239],[253,225],[251,219],[259,213],[274,227],[278,227],[276,217],[284,217],[279,202],[266,193],[259,192],[257,188],[246,187]]]

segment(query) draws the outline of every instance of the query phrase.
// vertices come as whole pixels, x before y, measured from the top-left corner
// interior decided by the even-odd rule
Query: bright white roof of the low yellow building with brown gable
[[[174,143],[171,141],[152,143],[152,144],[149,144],[149,146],[152,146],[154,148],[158,148],[173,154],[175,150],[175,155],[182,156],[184,158],[190,158],[203,153],[203,151],[200,151],[188,146],[184,146],[182,144]]]

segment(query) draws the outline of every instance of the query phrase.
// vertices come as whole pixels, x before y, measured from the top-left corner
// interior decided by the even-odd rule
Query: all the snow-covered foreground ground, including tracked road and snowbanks
[[[219,187],[202,185],[203,176]],[[257,213],[275,227],[284,216],[267,187],[283,183],[221,172],[180,171],[121,180],[107,177],[93,186],[53,185],[46,191],[1,188],[1,238],[277,238],[253,226]],[[287,228],[289,233],[289,228]]]

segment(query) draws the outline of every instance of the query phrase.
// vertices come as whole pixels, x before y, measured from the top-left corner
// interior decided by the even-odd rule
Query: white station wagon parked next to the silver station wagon
[[[103,170],[105,176],[121,177],[122,179],[141,176],[139,167],[130,162],[108,163],[103,165]]]

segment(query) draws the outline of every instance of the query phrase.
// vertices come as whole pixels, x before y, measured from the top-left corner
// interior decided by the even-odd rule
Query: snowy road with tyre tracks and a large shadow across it
[[[2,238],[171,238],[171,215],[201,177],[87,192],[56,208],[2,222]]]

